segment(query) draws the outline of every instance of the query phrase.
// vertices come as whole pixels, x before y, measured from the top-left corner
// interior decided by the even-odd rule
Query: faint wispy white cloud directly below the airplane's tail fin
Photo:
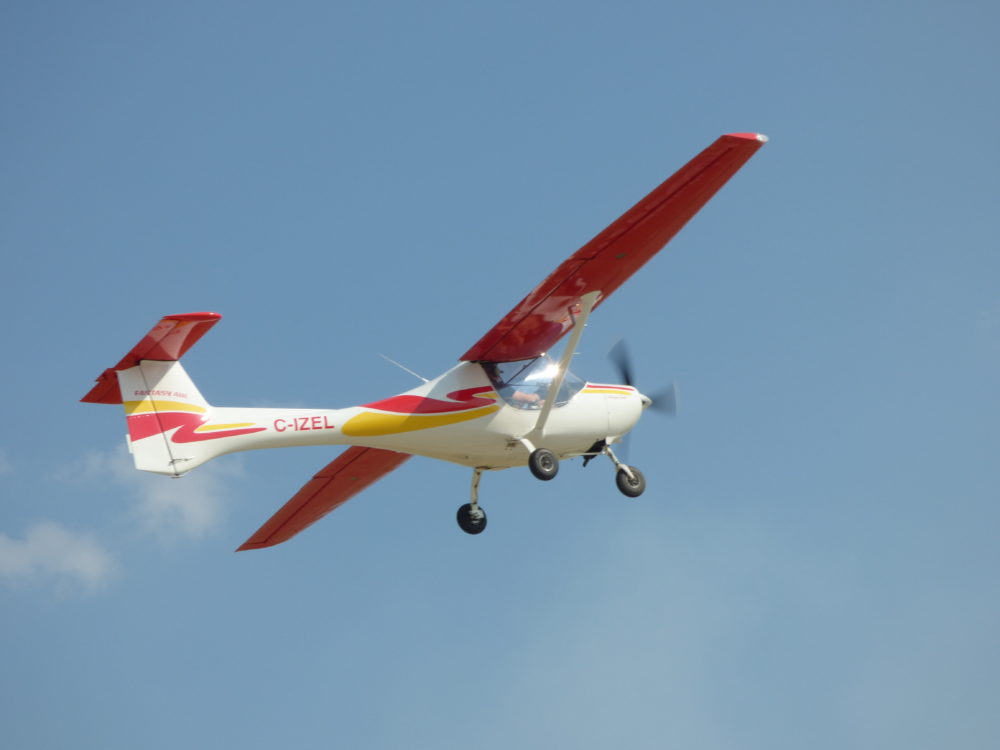
[[[228,485],[243,475],[233,461],[208,464],[172,479],[136,471],[123,447],[93,451],[84,459],[83,476],[123,488],[134,500],[134,512],[143,533],[164,541],[198,539],[216,528],[226,515],[231,497]]]

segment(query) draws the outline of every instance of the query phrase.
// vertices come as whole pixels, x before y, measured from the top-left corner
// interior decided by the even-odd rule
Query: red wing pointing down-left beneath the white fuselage
[[[287,542],[409,457],[408,453],[378,448],[348,448],[296,492],[239,549],[260,549]]]

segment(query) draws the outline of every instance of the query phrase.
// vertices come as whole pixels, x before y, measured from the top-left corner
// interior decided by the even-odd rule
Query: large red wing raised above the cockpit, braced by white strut
[[[720,137],[567,258],[461,359],[512,362],[548,351],[573,326],[569,311],[582,295],[600,291],[597,305],[611,296],[766,140],[756,133]]]

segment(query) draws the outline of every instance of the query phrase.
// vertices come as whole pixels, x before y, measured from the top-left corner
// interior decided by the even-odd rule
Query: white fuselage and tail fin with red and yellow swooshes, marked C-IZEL
[[[173,475],[224,453],[302,445],[382,448],[488,469],[523,466],[533,447],[570,458],[600,440],[616,442],[635,426],[643,409],[643,397],[634,388],[586,383],[551,410],[539,431],[539,409],[505,402],[475,362],[461,362],[398,396],[345,409],[209,406],[179,363],[145,361],[120,375],[123,392],[136,399],[125,400],[137,465]],[[135,389],[140,381],[143,389]],[[150,418],[158,420],[152,429]],[[146,421],[132,421],[142,419]],[[154,448],[151,441],[157,441],[156,455],[140,461],[137,449],[144,444]]]

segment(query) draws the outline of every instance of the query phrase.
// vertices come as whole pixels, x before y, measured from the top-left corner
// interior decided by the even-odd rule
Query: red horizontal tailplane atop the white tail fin
[[[218,313],[167,315],[122,357],[121,362],[102,372],[97,378],[97,385],[80,400],[91,404],[120,404],[122,394],[118,387],[118,377],[115,375],[117,370],[135,367],[143,359],[176,361],[221,318]]]

